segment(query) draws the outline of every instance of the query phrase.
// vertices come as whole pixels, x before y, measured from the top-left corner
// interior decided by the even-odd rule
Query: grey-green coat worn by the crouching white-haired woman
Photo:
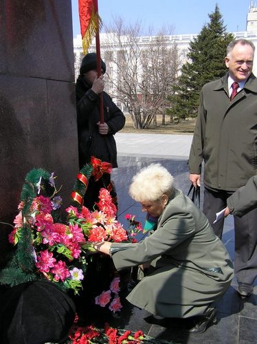
[[[152,261],[153,272],[127,299],[165,317],[203,314],[234,275],[230,256],[208,219],[177,189],[159,216],[157,230],[139,243],[113,243],[111,255],[118,270]]]

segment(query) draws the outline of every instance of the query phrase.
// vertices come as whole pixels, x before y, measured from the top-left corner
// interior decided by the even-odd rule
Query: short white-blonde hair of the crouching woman
[[[173,190],[173,177],[161,164],[150,164],[134,177],[129,194],[137,202],[153,202],[162,195],[170,195]]]

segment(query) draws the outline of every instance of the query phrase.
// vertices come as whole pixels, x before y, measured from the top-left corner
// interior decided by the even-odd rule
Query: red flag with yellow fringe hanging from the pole
[[[83,52],[87,54],[93,36],[99,32],[99,25],[102,24],[102,21],[93,0],[78,0],[78,13]]]

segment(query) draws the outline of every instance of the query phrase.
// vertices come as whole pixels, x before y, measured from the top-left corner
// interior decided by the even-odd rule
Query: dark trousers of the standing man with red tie
[[[203,213],[208,218],[214,233],[221,238],[224,220],[213,224],[216,213],[227,206],[227,197],[232,193],[204,189]],[[257,276],[257,209],[242,217],[234,216],[235,255],[234,271],[238,282],[254,283]]]

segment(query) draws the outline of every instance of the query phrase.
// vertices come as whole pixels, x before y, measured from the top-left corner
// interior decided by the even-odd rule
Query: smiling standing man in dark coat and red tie
[[[204,161],[203,213],[213,224],[227,198],[257,169],[257,80],[252,74],[254,45],[238,39],[227,46],[227,75],[203,86],[190,149],[190,181],[201,181]],[[248,297],[257,276],[257,210],[234,217],[235,274],[238,293]],[[220,238],[223,220],[212,225]]]

